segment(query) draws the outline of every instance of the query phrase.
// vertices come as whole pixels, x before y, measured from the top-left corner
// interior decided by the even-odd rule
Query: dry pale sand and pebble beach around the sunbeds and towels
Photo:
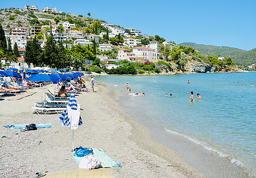
[[[216,167],[216,173],[212,173],[212,176],[202,173],[188,164],[180,153],[152,139],[149,130],[139,125],[106,95],[109,91],[105,86],[95,84],[94,90],[97,92],[83,92],[76,96],[77,103],[82,104],[83,126],[74,130],[74,146],[105,149],[114,161],[123,165],[123,168],[109,168],[113,176],[249,177],[241,168],[228,164],[228,161],[223,170],[219,171]],[[61,125],[58,120],[60,114],[32,114],[30,107],[41,101],[42,89],[29,91],[36,93],[17,101],[6,100],[8,97],[0,101],[1,177],[23,178],[39,171],[50,173],[78,169],[78,163],[71,153],[72,131]],[[31,123],[54,123],[54,126],[26,132],[2,127]],[[214,153],[211,156],[219,159]],[[127,157],[138,162],[131,163]],[[205,160],[202,164],[209,161]]]

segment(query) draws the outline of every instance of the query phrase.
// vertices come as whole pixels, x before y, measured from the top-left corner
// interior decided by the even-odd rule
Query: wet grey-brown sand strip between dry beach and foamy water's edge
[[[107,87],[107,86],[105,86],[105,87]],[[108,86],[108,88],[109,88],[109,86]],[[112,88],[111,90],[115,90],[115,89]],[[104,96],[104,94],[101,94],[101,95]],[[112,102],[115,102],[114,99],[110,99],[110,100],[113,100]],[[118,106],[119,106],[119,104],[118,104]],[[117,108],[112,108],[112,109],[115,110]],[[125,112],[121,109],[120,106],[119,106],[118,110]],[[129,114],[127,114],[127,115],[129,115]],[[186,166],[190,168],[190,173],[189,173],[190,175],[191,174],[195,175],[195,173],[200,173],[200,174],[204,174],[205,177],[208,177],[208,176],[209,177],[251,177],[249,175],[249,173],[247,173],[245,171],[245,168],[243,168],[241,165],[233,163],[231,161],[232,158],[221,157],[221,155],[219,153],[217,153],[213,150],[205,149],[202,145],[197,144],[196,142],[191,141],[184,136],[181,136],[182,134],[179,134],[179,135],[174,134],[174,133],[167,134],[166,130],[164,130],[163,128],[161,128],[158,133],[152,133],[152,132],[150,132],[148,127],[140,125],[134,118],[132,118],[132,121],[130,119],[126,119],[126,122],[130,123],[133,126],[133,128],[137,128],[137,129],[133,129],[133,131],[132,131],[133,136],[129,137],[131,140],[138,143],[143,149],[145,149],[153,154],[156,154],[159,157],[162,157],[163,159],[165,159],[167,161],[174,161],[174,160],[177,161],[177,158],[179,158],[182,161],[180,161],[180,160],[177,161],[177,162],[179,162],[178,164],[180,164],[180,162],[183,162],[181,165],[186,164]],[[136,123],[136,124],[134,124],[134,123]],[[156,127],[159,127],[159,126],[156,126]],[[138,135],[141,135],[141,132],[138,134],[138,130],[144,130],[144,132],[147,133],[148,137],[146,139],[147,140],[146,145],[144,143],[145,137],[138,137]],[[161,137],[163,136],[164,138],[159,139],[159,135],[161,135]],[[171,140],[170,140],[170,137],[171,137]],[[170,141],[173,143],[166,144],[167,141]],[[180,142],[182,142],[182,144]],[[149,146],[149,145],[151,145],[151,146]],[[154,146],[152,146],[152,145],[154,145]],[[158,145],[159,150],[163,150],[163,149],[166,150],[165,153],[172,152],[173,154],[170,156],[176,157],[176,159],[170,158],[167,155],[159,154],[157,151],[155,151],[155,149],[151,148],[151,147],[155,147],[155,145]],[[183,148],[180,148],[181,145],[183,146]],[[190,150],[191,152],[189,153],[189,151],[181,151],[184,149]],[[202,158],[201,159],[198,159],[198,158],[187,159],[188,157],[190,157],[189,154],[191,154],[191,153],[193,153],[193,154],[196,153],[197,155],[201,154]],[[207,155],[205,155],[205,154],[207,154]],[[184,159],[184,157],[186,159]],[[209,161],[208,160],[209,158],[212,161]],[[210,165],[212,164],[213,167],[211,168],[209,166],[205,166],[204,164],[206,162],[204,162],[205,160],[203,161],[203,159],[208,160],[208,164],[210,164]],[[199,162],[195,162],[195,160],[199,161]],[[189,166],[188,166],[188,164],[189,164]],[[205,169],[205,170],[203,170],[203,169]],[[179,167],[179,170],[180,171],[184,170],[184,168]],[[212,173],[213,170],[215,170],[217,172]],[[188,170],[186,170],[185,172],[187,173],[187,171]],[[200,177],[202,177],[202,175],[200,175]]]

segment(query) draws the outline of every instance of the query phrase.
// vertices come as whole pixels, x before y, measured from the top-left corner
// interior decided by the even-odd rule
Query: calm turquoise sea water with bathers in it
[[[106,76],[95,80],[120,90],[124,95],[118,103],[140,122],[155,124],[222,157],[231,157],[231,162],[256,175],[256,86],[250,87],[256,84],[256,72],[153,75],[151,79]],[[145,92],[145,96],[125,94],[126,82],[132,93]],[[193,103],[189,102],[190,91],[194,92]],[[196,99],[197,93],[201,101]]]

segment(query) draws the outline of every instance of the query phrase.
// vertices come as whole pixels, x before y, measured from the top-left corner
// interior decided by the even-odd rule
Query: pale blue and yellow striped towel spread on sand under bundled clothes
[[[113,159],[111,159],[107,154],[105,154],[105,152],[102,152],[96,148],[92,148],[92,149],[93,149],[93,155],[96,156],[101,161],[102,168],[114,168],[114,165],[116,164],[116,162]],[[76,159],[78,164],[80,164],[83,157],[75,156],[74,158]]]

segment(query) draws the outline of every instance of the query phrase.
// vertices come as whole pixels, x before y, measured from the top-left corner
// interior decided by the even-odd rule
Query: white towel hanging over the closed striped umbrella
[[[80,105],[77,105],[77,110],[71,109],[67,106],[68,118],[70,119],[69,128],[75,130],[78,128],[79,118],[80,118]]]

